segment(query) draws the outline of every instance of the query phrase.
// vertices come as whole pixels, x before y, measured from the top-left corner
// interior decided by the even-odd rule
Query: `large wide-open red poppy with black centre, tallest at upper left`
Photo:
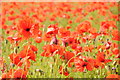
[[[33,22],[33,19],[25,17],[18,25],[18,32],[23,35],[25,39],[28,39],[38,35],[39,26]]]

